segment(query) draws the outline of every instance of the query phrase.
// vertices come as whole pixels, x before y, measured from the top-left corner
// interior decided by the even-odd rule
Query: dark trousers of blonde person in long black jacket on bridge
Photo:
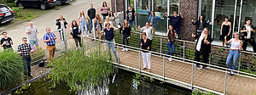
[[[203,57],[203,63],[208,63],[209,53],[200,53],[199,51],[195,50],[195,61],[200,62],[200,56]],[[196,66],[199,66],[199,63],[195,63]],[[202,64],[203,67],[206,67],[207,65]]]

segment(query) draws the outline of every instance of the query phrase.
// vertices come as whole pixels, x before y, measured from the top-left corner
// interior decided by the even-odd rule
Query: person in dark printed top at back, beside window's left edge
[[[128,23],[131,26],[135,26],[135,16],[137,15],[136,11],[131,8],[131,6],[128,7],[128,10],[126,11],[126,16],[127,16],[127,20]]]

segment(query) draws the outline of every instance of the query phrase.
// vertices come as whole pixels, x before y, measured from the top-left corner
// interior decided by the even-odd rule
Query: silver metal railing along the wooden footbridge
[[[140,33],[137,33],[137,34],[140,34]],[[157,36],[157,37],[160,37],[161,39],[164,39],[165,37],[162,37],[162,36]],[[85,38],[85,39],[94,39],[95,41],[97,41],[98,43],[100,43],[100,42],[106,42],[106,41],[103,41],[103,40],[99,40],[99,39],[96,39],[96,38],[91,38],[91,37],[84,37],[83,36],[83,38]],[[117,41],[117,39],[115,39],[115,41]],[[162,40],[160,40],[161,42],[162,42]],[[179,42],[183,42],[183,52],[184,52],[184,48],[185,48],[185,45],[186,45],[186,43],[195,43],[195,42],[188,42],[188,41],[182,41],[182,40],[177,40],[177,41],[179,41]],[[160,43],[161,43],[160,42]],[[133,52],[136,52],[136,53],[138,53],[138,65],[136,65],[136,67],[139,67],[139,69],[137,69],[137,68],[134,68],[134,67],[131,67],[131,66],[128,66],[128,65],[125,65],[125,64],[120,64],[120,62],[119,61],[117,61],[117,65],[119,65],[119,66],[124,66],[124,67],[126,67],[126,68],[129,68],[129,69],[131,69],[131,70],[137,70],[137,71],[139,71],[139,72],[143,72],[143,73],[145,73],[145,74],[148,74],[148,75],[154,75],[154,76],[157,76],[157,77],[160,77],[160,78],[162,78],[162,80],[163,81],[165,81],[165,80],[169,80],[169,81],[175,81],[176,83],[180,83],[180,84],[182,84],[182,85],[184,85],[184,86],[187,86],[187,87],[190,87],[190,89],[201,89],[201,90],[204,90],[204,91],[208,91],[208,92],[214,92],[214,93],[217,93],[217,94],[225,94],[227,91],[226,91],[226,87],[228,86],[227,85],[227,83],[228,83],[228,80],[227,80],[227,78],[228,78],[228,71],[234,71],[234,72],[236,72],[236,73],[238,73],[238,74],[236,74],[236,75],[238,75],[238,76],[241,76],[241,77],[244,77],[244,78],[247,78],[248,80],[253,80],[253,81],[256,81],[256,75],[253,75],[253,74],[249,74],[249,73],[246,73],[246,72],[242,72],[242,71],[239,71],[239,70],[230,70],[230,69],[227,69],[227,68],[224,68],[224,67],[221,67],[221,66],[218,66],[218,65],[214,65],[214,64],[211,64],[211,63],[209,63],[209,64],[205,64],[205,63],[201,63],[201,62],[197,62],[197,61],[194,61],[194,60],[192,60],[192,59],[186,59],[184,56],[184,54],[185,53],[183,53],[183,56],[181,56],[181,57],[177,57],[177,56],[172,56],[172,58],[174,59],[174,60],[176,60],[176,61],[178,61],[178,62],[183,62],[183,63],[185,63],[185,64],[189,64],[189,65],[191,65],[191,80],[190,80],[190,83],[188,83],[188,82],[184,82],[183,80],[180,80],[180,79],[173,79],[172,77],[168,77],[168,76],[166,76],[166,57],[168,57],[168,56],[171,56],[171,55],[167,55],[166,53],[162,53],[162,52],[155,52],[155,51],[148,51],[148,50],[143,50],[143,49],[141,49],[141,48],[135,48],[135,47],[131,47],[130,45],[129,46],[126,46],[126,45],[123,45],[123,44],[119,44],[119,43],[113,43],[115,46],[117,46],[117,53],[118,53],[118,58],[120,57],[120,56],[124,56],[124,55],[122,55],[122,54],[125,54],[125,53],[122,53],[122,54],[120,54],[119,53],[119,48],[121,48],[121,47],[126,47],[126,48],[129,48],[129,50],[131,50],[131,51],[133,51]],[[98,45],[100,45],[100,44],[98,44]],[[99,46],[100,47],[100,46]],[[216,47],[216,46],[213,46],[213,47]],[[224,48],[225,49],[225,48]],[[157,75],[157,74],[154,74],[154,73],[151,73],[151,72],[147,72],[147,71],[144,71],[144,70],[141,70],[141,55],[140,55],[140,52],[141,51],[147,51],[147,52],[150,52],[150,53],[152,53],[152,55],[153,56],[155,56],[155,57],[159,57],[159,58],[162,58],[163,59],[163,61],[162,61],[162,65],[163,65],[163,67],[162,67],[162,75]],[[161,51],[161,50],[160,50]],[[241,52],[241,53],[246,53],[246,52]],[[135,53],[132,53],[132,56],[135,56],[134,55]],[[129,54],[127,54],[127,55],[129,55]],[[128,60],[129,60],[129,58],[127,58]],[[224,82],[224,84],[222,85],[222,87],[223,87],[223,92],[220,92],[219,90],[217,91],[217,90],[211,90],[210,88],[207,88],[207,87],[201,87],[201,86],[198,86],[198,85],[195,85],[195,80],[200,80],[200,79],[198,79],[198,78],[195,78],[195,75],[197,75],[196,73],[198,73],[198,71],[196,71],[195,69],[194,69],[194,63],[199,63],[199,64],[205,64],[205,65],[207,65],[208,67],[209,67],[209,69],[210,70],[215,70],[215,71],[218,71],[220,74],[223,74],[224,73],[224,80],[223,80],[223,82]],[[167,68],[167,69],[170,69],[170,68]],[[198,76],[197,76],[198,77]],[[222,80],[218,80],[218,82],[221,82]],[[213,83],[212,83],[213,84]]]

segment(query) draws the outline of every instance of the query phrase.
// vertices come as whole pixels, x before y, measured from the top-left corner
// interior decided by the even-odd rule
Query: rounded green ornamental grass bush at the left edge
[[[18,53],[0,52],[0,89],[14,87],[23,75],[23,60]]]

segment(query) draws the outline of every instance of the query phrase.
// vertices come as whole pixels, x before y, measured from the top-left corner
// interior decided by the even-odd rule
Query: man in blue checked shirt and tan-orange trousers
[[[55,39],[57,37],[54,33],[50,32],[50,28],[46,28],[46,34],[44,35],[44,42],[46,43],[46,48],[49,51],[49,61],[51,61],[51,58],[55,56]]]

